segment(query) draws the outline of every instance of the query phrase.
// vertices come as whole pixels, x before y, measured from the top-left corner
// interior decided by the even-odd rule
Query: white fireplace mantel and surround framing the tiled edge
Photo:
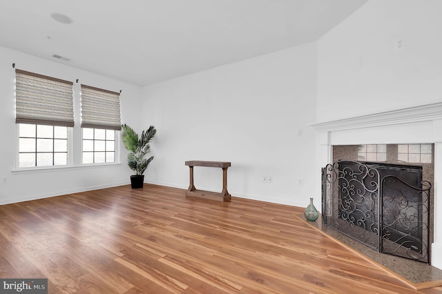
[[[442,269],[442,102],[311,124],[317,130],[316,170],[332,163],[332,146],[434,144],[434,242],[431,264]],[[315,195],[320,195],[320,177]],[[320,203],[316,204],[320,207]]]

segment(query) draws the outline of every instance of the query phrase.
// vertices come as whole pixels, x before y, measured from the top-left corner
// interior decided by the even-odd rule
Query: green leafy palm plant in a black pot
[[[157,130],[154,126],[150,126],[147,130],[143,130],[140,136],[126,124],[122,124],[122,130],[124,147],[129,150],[127,164],[135,172],[135,175],[131,175],[131,186],[143,188],[144,171],[153,159],[153,156],[146,158],[151,152],[149,142],[155,137]]]

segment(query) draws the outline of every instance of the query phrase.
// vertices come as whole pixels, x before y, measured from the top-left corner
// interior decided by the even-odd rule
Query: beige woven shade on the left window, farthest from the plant
[[[73,83],[15,70],[17,124],[74,126]]]

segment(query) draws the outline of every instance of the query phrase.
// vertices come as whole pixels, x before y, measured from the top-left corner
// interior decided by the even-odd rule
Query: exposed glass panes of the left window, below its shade
[[[68,165],[68,128],[19,124],[19,167]]]

